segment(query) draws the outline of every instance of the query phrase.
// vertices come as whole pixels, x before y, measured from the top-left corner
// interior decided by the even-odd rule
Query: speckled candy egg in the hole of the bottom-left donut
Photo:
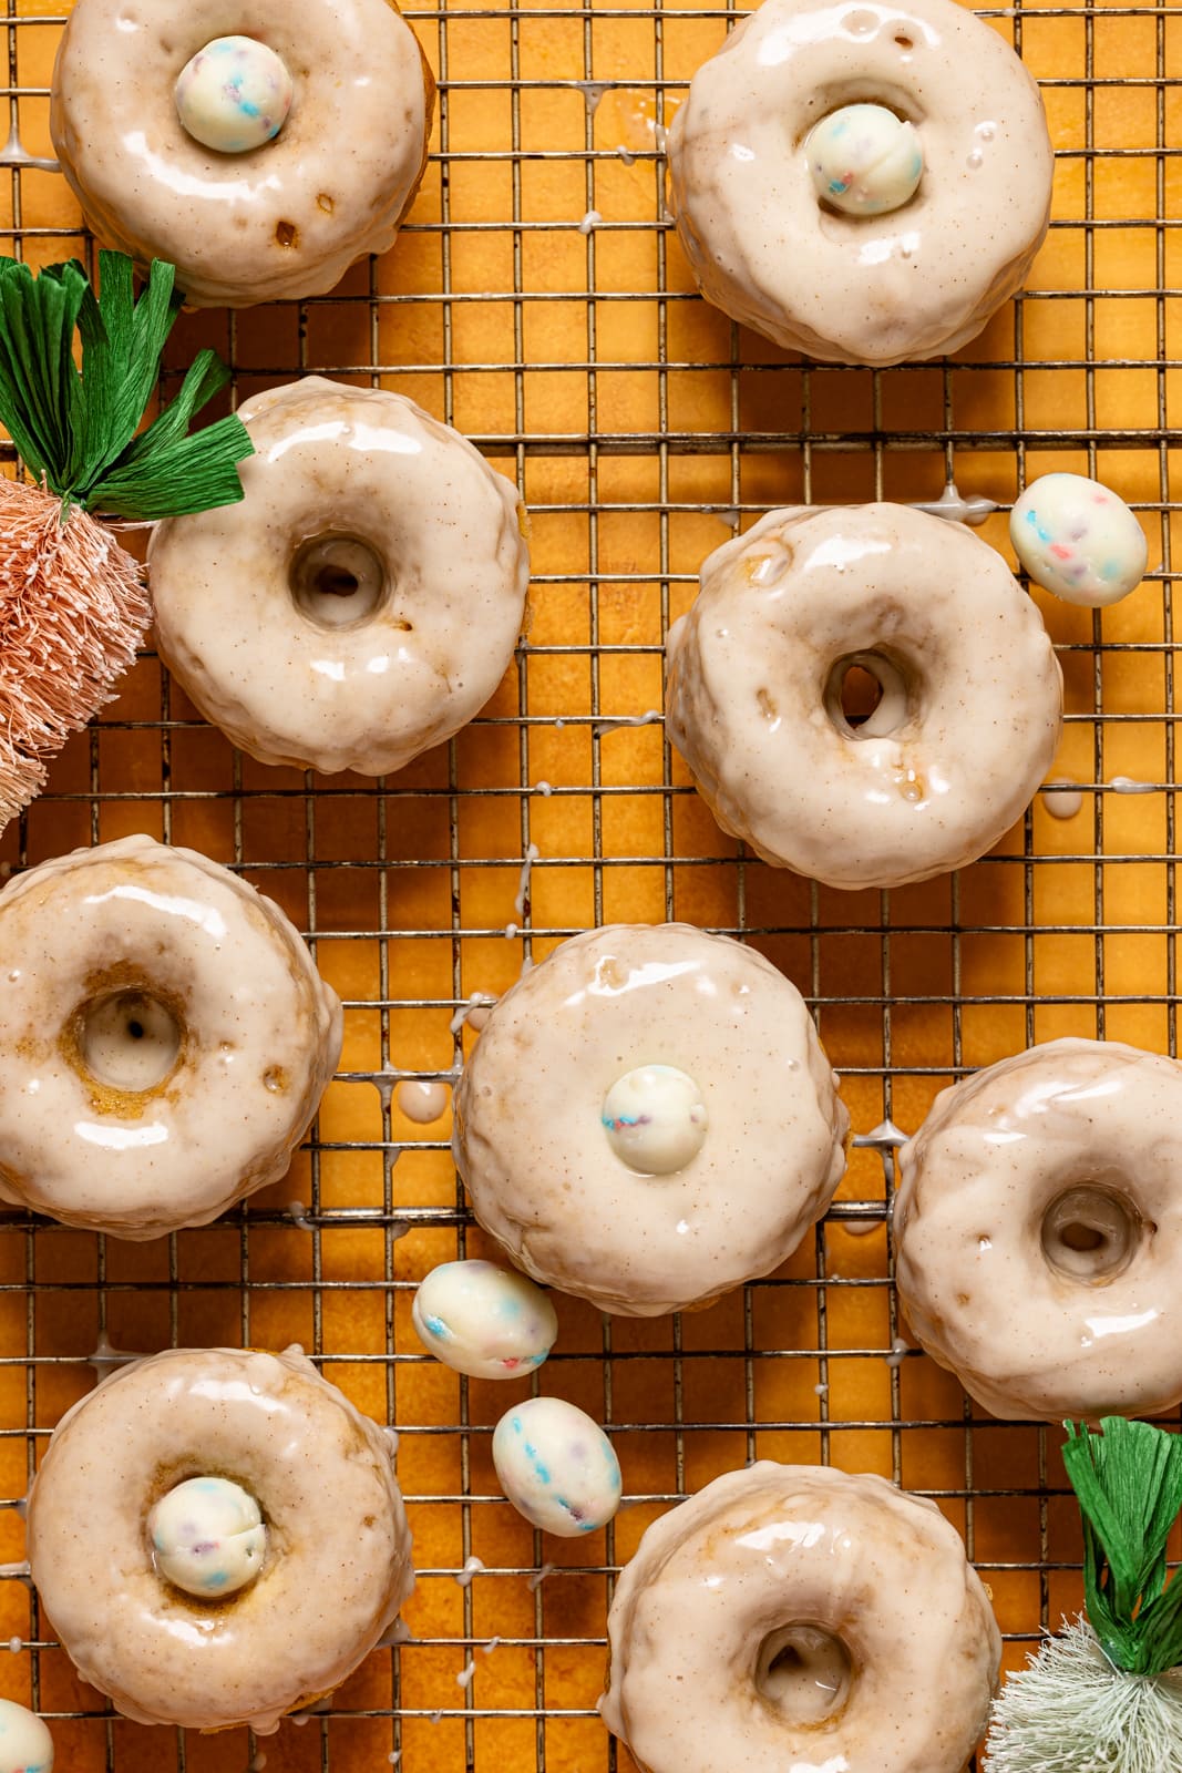
[[[237,1594],[262,1571],[268,1530],[259,1504],[229,1477],[186,1477],[147,1516],[161,1576],[206,1601]]]

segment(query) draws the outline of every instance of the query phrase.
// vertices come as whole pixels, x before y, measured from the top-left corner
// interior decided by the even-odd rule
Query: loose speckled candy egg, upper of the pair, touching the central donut
[[[558,1317],[540,1287],[496,1262],[441,1262],[411,1307],[418,1340],[471,1379],[516,1379],[540,1367]]]

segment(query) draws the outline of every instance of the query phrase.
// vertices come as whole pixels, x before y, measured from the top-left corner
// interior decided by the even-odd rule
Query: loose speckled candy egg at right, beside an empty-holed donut
[[[1124,498],[1081,473],[1044,473],[1010,512],[1010,541],[1035,583],[1100,610],[1141,583],[1148,546]]]

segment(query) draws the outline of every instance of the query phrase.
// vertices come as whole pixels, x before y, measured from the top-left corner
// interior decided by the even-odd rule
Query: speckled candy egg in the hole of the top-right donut
[[[842,105],[805,138],[820,202],[852,216],[902,209],[923,177],[923,142],[913,122],[886,105]]]

